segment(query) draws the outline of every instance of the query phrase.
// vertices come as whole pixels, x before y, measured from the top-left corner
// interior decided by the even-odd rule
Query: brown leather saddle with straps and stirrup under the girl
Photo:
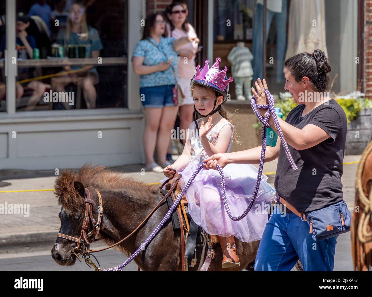
[[[174,203],[174,201],[176,201],[176,199],[182,192],[180,185],[181,177],[182,177],[181,174],[175,173],[174,177],[166,182],[165,185],[166,191],[169,191],[172,187],[174,187],[170,195],[172,202],[169,203],[169,201],[167,201],[169,207],[171,207],[171,205]],[[163,188],[163,186],[164,183],[163,185],[161,185],[161,188]],[[165,195],[165,193],[163,193],[163,195]],[[197,225],[192,220],[188,213],[188,202],[185,195],[182,196],[179,205],[176,208],[176,214],[179,225],[176,224],[175,220],[173,220],[173,228],[178,229],[179,226],[180,230],[183,230],[181,231],[182,271],[187,271],[188,267],[195,267],[195,265],[198,263],[198,259],[200,260],[198,271],[209,271],[211,268],[213,268],[213,265],[211,265],[215,257],[215,251],[213,247],[216,243],[218,243],[217,236],[206,233],[205,230],[202,229],[202,227]],[[187,233],[186,238],[185,233]],[[207,244],[208,252],[205,255],[205,249]],[[199,254],[197,253],[198,250]],[[205,261],[202,262],[201,260],[204,259],[204,256]],[[185,258],[187,260],[187,265]]]

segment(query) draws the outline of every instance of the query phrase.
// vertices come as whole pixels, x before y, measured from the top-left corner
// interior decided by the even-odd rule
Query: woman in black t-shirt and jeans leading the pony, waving
[[[285,89],[292,93],[294,102],[299,105],[289,112],[285,121],[275,116],[298,169],[292,170],[280,138],[275,147],[266,147],[265,162],[278,158],[275,189],[278,203],[280,201],[286,206],[286,213],[280,214],[276,208],[271,215],[257,251],[254,269],[289,271],[300,259],[305,271],[332,271],[338,236],[314,241],[307,221],[303,221],[299,214],[343,201],[341,176],[346,115],[341,106],[324,93],[331,66],[323,51],[317,49],[312,54],[295,55],[286,60],[284,66]],[[258,79],[255,86],[252,93],[256,103],[267,104],[265,80],[261,82]],[[307,95],[304,97],[304,94]],[[321,96],[315,97],[319,94]],[[312,95],[319,100],[307,100]],[[259,111],[263,116],[266,113],[264,109]],[[272,115],[269,124],[278,132]],[[229,163],[256,164],[260,156],[261,147],[215,154],[204,161],[204,166],[216,169],[217,163],[221,167]]]

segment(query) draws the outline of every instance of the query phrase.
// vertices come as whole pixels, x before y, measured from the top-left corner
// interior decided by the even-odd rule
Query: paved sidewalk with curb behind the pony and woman
[[[344,163],[359,161],[360,155],[345,156]],[[263,172],[275,172],[277,160],[264,164]],[[354,207],[354,185],[356,164],[344,165],[342,177],[344,199],[349,208]],[[258,168],[258,165],[255,165]],[[141,175],[143,165],[113,167],[144,183],[160,182],[162,173],[145,172]],[[275,174],[268,175],[268,182],[273,186]],[[0,172],[0,191],[53,189],[54,170],[29,172],[23,170],[3,170]],[[124,185],[123,185],[124,186]],[[105,199],[103,197],[103,199]],[[19,242],[34,243],[53,240],[60,229],[58,213],[61,207],[53,191],[48,192],[13,192],[0,193],[0,204],[29,204],[29,217],[23,214],[0,215],[0,247],[15,245]],[[0,252],[1,254],[1,252]]]

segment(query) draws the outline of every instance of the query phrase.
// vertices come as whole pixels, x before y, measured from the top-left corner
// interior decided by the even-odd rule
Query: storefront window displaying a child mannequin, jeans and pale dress
[[[234,77],[231,99],[250,100],[257,78],[266,79],[273,95],[285,92],[285,60],[315,49],[332,66],[328,89],[332,83],[334,93],[357,89],[357,64],[347,58],[357,55],[357,1],[267,0],[266,42],[263,2],[214,0],[214,57]]]

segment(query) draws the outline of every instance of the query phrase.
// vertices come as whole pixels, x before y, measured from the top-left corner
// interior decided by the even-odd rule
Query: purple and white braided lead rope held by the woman
[[[248,214],[248,212],[252,208],[252,205],[253,205],[254,201],[256,200],[257,192],[258,192],[259,187],[260,187],[260,182],[261,182],[260,177],[262,176],[262,169],[263,169],[263,163],[264,163],[264,160],[265,160],[265,151],[266,151],[266,127],[270,127],[270,125],[268,124],[267,121],[269,120],[270,114],[275,115],[274,97],[270,94],[269,90],[267,90],[267,89],[265,89],[265,95],[266,95],[267,101],[269,103],[269,104],[266,104],[266,105],[256,105],[256,100],[254,99],[254,96],[252,96],[252,99],[251,99],[252,109],[253,109],[254,113],[256,114],[257,118],[262,123],[261,158],[260,158],[260,165],[259,165],[259,170],[258,170],[258,174],[257,174],[256,185],[254,186],[254,191],[253,191],[251,201],[250,201],[247,209],[241,215],[239,215],[237,217],[234,217],[234,215],[232,215],[232,213],[230,211],[230,207],[229,207],[227,199],[226,199],[226,188],[225,188],[224,173],[222,171],[221,166],[219,164],[217,164],[217,169],[218,169],[218,172],[219,172],[219,176],[221,178],[222,200],[223,200],[223,203],[224,203],[224,206],[225,206],[225,209],[226,209],[226,212],[227,212],[228,216],[231,218],[231,220],[234,220],[234,221],[239,221]],[[258,111],[258,108],[267,109],[267,113],[266,113],[265,118],[263,118],[263,116],[260,114],[260,112]],[[282,130],[280,129],[280,126],[279,126],[278,118],[276,116],[273,116],[273,119],[274,119],[276,130],[278,130],[278,135],[280,137],[280,140],[282,141],[282,145],[284,147],[285,153],[286,153],[287,158],[289,160],[289,163],[291,164],[293,170],[296,170],[297,166],[292,159],[291,153],[289,153],[287,143],[285,142],[284,135],[283,135]],[[181,198],[183,197],[183,195],[186,193],[187,189],[189,188],[191,182],[195,179],[196,175],[200,172],[200,170],[202,168],[203,168],[203,164],[200,165],[198,167],[198,169],[196,169],[196,171],[193,173],[193,175],[191,176],[189,181],[186,183],[185,187],[182,189],[182,191],[181,191],[180,195],[178,196],[178,198],[176,199],[176,201],[174,201],[171,208],[169,208],[169,211],[164,216],[163,220],[161,220],[161,222],[158,224],[158,226],[155,228],[155,230],[150,234],[150,236],[145,240],[145,242],[142,243],[141,246],[138,247],[138,249],[123,264],[121,264],[119,266],[116,266],[114,268],[103,269],[103,271],[123,271],[123,268],[129,262],[131,262],[142,250],[145,249],[145,246],[148,245],[148,243],[151,241],[151,239],[153,239],[155,237],[155,235],[158,233],[158,231],[161,229],[161,227],[163,227],[164,223],[169,219],[169,217],[171,216],[173,211],[176,209],[176,207],[177,207],[178,203],[180,202]]]

